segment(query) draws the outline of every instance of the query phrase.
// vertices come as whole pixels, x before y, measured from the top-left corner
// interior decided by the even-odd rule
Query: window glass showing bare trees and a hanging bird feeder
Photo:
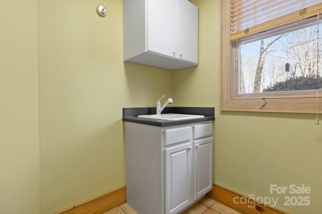
[[[235,41],[237,93],[321,88],[317,78],[321,76],[318,71],[322,72],[321,28],[321,24],[313,22],[281,33]]]

